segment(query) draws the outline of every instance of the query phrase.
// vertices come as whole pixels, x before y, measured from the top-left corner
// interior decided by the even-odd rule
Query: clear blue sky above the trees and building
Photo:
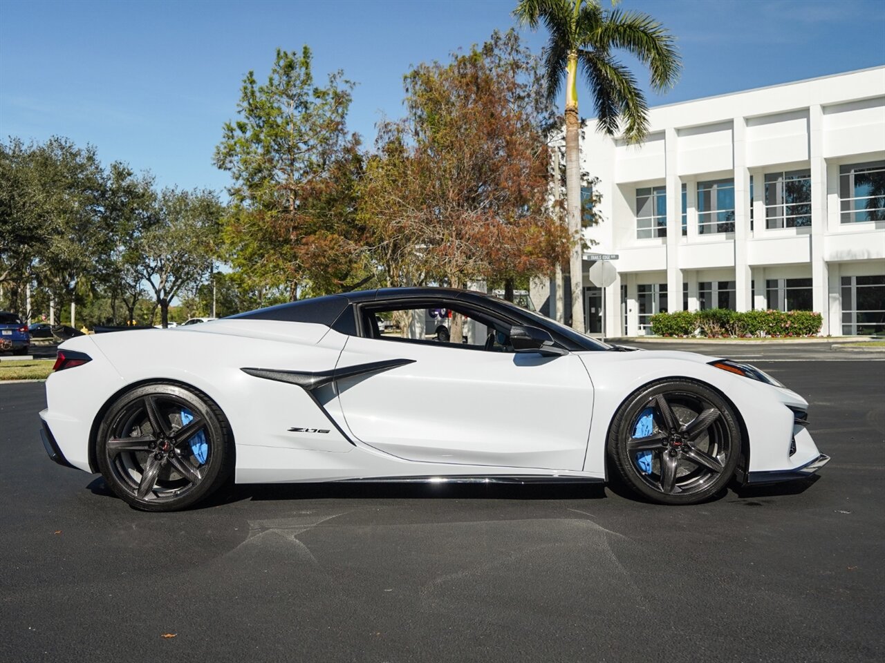
[[[607,4],[607,3],[606,3]],[[162,185],[227,186],[212,166],[243,75],[274,50],[314,51],[314,73],[358,83],[349,127],[366,143],[402,113],[410,65],[514,25],[515,0],[13,2],[0,0],[0,136],[58,134]],[[885,64],[885,2],[624,0],[679,38],[684,72],[652,105]],[[543,31],[524,31],[540,50]],[[642,72],[640,79],[645,80]],[[581,89],[582,115],[591,114]]]

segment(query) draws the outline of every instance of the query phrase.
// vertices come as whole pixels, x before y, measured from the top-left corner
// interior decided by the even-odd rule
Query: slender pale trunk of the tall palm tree
[[[568,58],[566,72],[566,210],[568,230],[574,246],[569,252],[569,276],[572,278],[572,328],[584,331],[584,297],[581,258],[581,120],[578,117],[578,54]]]

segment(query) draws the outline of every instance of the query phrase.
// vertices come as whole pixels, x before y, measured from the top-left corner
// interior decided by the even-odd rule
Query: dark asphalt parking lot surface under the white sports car
[[[42,384],[0,385],[0,660],[881,661],[885,353],[737,349],[833,460],[681,508],[327,484],[142,514],[46,458]]]

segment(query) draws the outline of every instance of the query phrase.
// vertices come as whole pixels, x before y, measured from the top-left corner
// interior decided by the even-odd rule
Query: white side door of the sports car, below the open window
[[[346,423],[367,445],[410,461],[583,466],[593,386],[578,357],[381,335],[350,337],[338,367],[391,360],[409,363],[338,381]]]

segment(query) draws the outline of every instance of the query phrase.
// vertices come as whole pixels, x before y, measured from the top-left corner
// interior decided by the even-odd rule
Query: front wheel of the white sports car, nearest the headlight
[[[741,427],[718,392],[674,378],[647,385],[624,402],[612,420],[608,453],[623,483],[642,497],[697,504],[735,475]]]

